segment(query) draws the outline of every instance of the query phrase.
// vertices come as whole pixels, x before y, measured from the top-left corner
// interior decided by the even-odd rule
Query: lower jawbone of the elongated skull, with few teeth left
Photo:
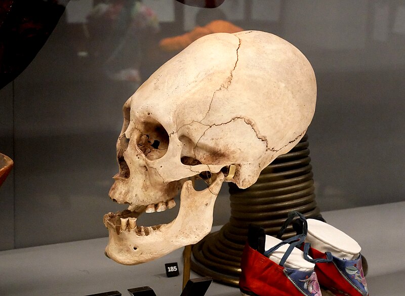
[[[224,181],[223,174],[218,175],[217,180],[203,191],[195,191],[191,181],[185,182],[181,190],[179,214],[169,224],[136,226],[123,231],[108,219],[110,214],[106,214],[104,223],[109,231],[106,255],[118,263],[135,265],[197,243],[211,231],[215,199]],[[130,213],[128,215],[135,215]]]

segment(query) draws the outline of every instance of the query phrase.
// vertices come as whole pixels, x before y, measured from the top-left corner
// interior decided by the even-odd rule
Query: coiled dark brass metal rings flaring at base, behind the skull
[[[247,189],[229,183],[230,220],[193,246],[193,271],[237,286],[249,224],[263,227],[268,235],[276,235],[291,210],[307,218],[320,215],[308,145],[305,135],[289,153],[278,156],[264,168],[257,182]],[[290,227],[285,236],[294,234]]]

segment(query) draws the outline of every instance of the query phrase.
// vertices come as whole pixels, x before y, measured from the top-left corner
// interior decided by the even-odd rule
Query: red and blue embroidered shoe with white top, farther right
[[[304,252],[313,259],[333,255],[332,262],[316,263],[315,271],[321,286],[337,296],[368,296],[362,268],[360,245],[346,233],[325,222],[308,219]]]

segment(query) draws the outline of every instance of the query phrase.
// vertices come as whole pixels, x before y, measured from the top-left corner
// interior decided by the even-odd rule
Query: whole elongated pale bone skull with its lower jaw
[[[224,181],[247,188],[305,134],[315,110],[311,65],[270,33],[204,36],[161,66],[124,105],[119,173],[106,214],[106,254],[139,264],[198,242],[212,226]],[[193,179],[208,188],[196,191]],[[136,225],[142,212],[180,209],[169,224]]]

